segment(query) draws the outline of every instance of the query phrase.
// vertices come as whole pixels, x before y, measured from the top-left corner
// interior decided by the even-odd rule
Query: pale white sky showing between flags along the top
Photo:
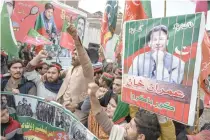
[[[81,0],[79,7],[94,13],[97,11],[104,11],[106,0]],[[125,0],[119,0],[119,5],[122,7],[123,13]],[[164,0],[151,0],[153,18],[164,16]],[[190,0],[167,0],[167,16],[192,14],[195,11],[195,3]]]

